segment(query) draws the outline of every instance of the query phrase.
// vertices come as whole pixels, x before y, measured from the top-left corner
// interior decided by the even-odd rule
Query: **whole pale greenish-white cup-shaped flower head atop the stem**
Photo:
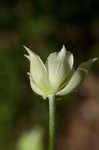
[[[66,95],[76,89],[88,74],[97,58],[90,59],[74,69],[73,54],[63,45],[60,52],[51,53],[44,64],[41,58],[24,46],[30,61],[30,85],[44,99],[50,95]]]

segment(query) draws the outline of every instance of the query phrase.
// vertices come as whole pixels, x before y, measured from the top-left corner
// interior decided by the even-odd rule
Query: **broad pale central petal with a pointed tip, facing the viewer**
[[[66,79],[73,67],[73,55],[66,51],[63,45],[59,53],[49,55],[46,66],[49,73],[49,81],[53,89],[57,89]]]

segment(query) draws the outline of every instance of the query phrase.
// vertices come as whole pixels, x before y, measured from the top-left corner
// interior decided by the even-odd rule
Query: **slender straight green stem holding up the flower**
[[[49,150],[55,148],[55,96],[49,96]]]

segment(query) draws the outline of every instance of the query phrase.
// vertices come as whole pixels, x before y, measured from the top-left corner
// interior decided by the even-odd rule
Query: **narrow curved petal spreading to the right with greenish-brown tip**
[[[68,84],[59,91],[56,95],[66,95],[76,89],[81,82],[85,79],[86,75],[88,74],[88,69],[97,59],[90,59],[87,62],[82,63],[78,69],[74,72],[73,76],[71,77]]]

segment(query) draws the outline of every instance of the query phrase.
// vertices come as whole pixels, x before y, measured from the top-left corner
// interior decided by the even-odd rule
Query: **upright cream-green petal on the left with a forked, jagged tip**
[[[26,57],[30,60],[30,74],[34,82],[41,90],[48,88],[49,87],[48,73],[45,65],[43,64],[42,60],[38,55],[36,55],[26,46],[24,48],[29,54],[29,56]]]

